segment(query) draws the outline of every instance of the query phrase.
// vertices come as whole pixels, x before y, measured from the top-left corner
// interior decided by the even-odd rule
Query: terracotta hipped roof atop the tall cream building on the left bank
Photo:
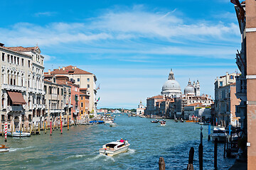
[[[86,72],[85,70],[78,69],[77,67],[75,68],[72,65],[64,67],[64,68],[65,68],[65,70],[63,70],[63,68],[53,69],[53,71],[50,72],[50,74],[92,74],[90,72]]]

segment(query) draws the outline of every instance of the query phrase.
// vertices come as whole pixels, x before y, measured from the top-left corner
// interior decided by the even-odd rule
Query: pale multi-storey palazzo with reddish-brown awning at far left
[[[38,126],[44,114],[43,60],[39,47],[5,47],[1,55],[1,123]]]

